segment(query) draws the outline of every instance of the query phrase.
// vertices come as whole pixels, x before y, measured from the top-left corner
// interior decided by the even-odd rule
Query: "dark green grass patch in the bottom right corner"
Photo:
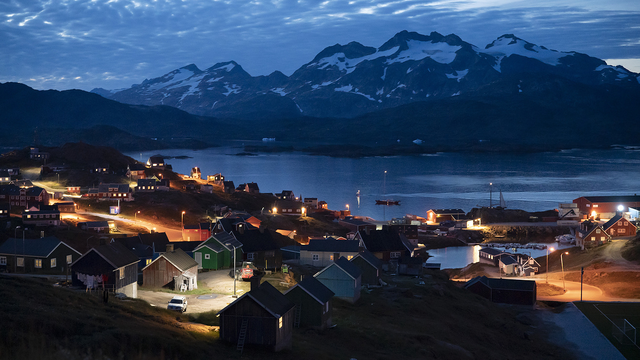
[[[631,325],[640,329],[640,303],[575,302],[575,305],[624,357],[627,359],[640,359],[640,348],[638,346],[629,343],[622,344],[613,336],[613,324],[610,321],[627,319]],[[640,336],[640,334],[636,336]],[[640,344],[640,342],[638,343]]]

